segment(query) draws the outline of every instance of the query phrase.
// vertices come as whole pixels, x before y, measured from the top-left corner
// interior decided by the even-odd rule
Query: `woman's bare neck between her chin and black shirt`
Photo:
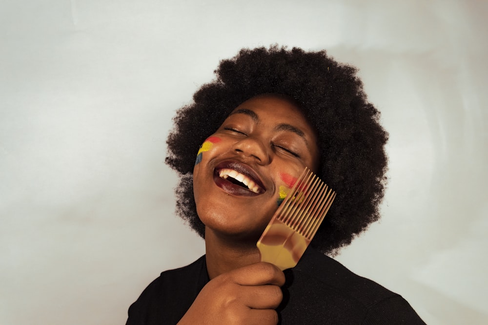
[[[260,261],[256,242],[243,243],[205,229],[205,258],[210,279]]]

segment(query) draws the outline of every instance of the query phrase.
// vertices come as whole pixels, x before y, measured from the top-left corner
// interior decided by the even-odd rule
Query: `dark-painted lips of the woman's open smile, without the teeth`
[[[219,172],[223,169],[231,169],[249,177],[254,183],[256,183],[256,185],[260,187],[260,191],[258,193],[253,192],[249,189],[236,185],[220,177]],[[266,188],[263,185],[263,181],[258,176],[258,174],[250,166],[243,164],[242,162],[237,160],[225,160],[219,163],[214,169],[213,180],[218,187],[228,192],[229,194],[237,196],[257,196],[263,194],[266,191]]]

